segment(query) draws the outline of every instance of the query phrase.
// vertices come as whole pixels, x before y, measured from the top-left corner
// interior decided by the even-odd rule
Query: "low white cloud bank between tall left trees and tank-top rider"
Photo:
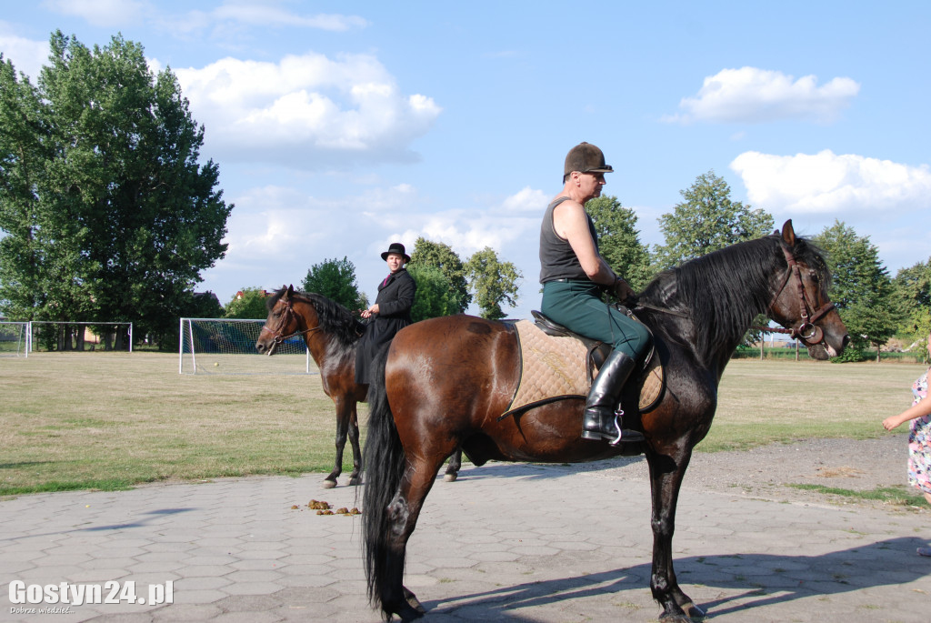
[[[384,277],[380,253],[396,241],[413,251],[423,236],[450,245],[464,261],[492,247],[524,275],[514,314],[529,316],[539,305],[537,239],[546,208],[539,190],[524,188],[492,205],[439,212],[426,212],[428,201],[407,183],[331,199],[265,186],[233,200],[226,258],[205,271],[198,287],[214,291],[222,302],[243,287],[299,285],[311,265],[344,256],[356,265],[359,288],[374,300],[374,287]]]

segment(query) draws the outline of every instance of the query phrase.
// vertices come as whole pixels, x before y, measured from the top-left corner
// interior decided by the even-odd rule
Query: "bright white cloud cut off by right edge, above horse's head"
[[[931,208],[931,169],[824,150],[814,155],[745,152],[731,163],[749,202],[771,212],[842,214]]]

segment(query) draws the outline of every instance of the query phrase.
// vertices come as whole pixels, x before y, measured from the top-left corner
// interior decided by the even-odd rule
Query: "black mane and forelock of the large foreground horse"
[[[816,270],[821,283],[830,283],[820,251],[803,237],[795,240],[795,258]],[[782,238],[773,235],[695,258],[657,275],[641,300],[687,313],[695,327],[695,350],[707,363],[720,348],[734,347],[753,318],[771,303],[773,274],[788,267],[782,244]]]

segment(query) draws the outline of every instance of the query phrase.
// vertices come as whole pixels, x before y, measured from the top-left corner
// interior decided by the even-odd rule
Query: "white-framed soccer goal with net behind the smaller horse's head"
[[[181,318],[178,332],[180,374],[310,374],[310,350],[301,336],[260,355],[255,342],[265,324],[238,318]]]

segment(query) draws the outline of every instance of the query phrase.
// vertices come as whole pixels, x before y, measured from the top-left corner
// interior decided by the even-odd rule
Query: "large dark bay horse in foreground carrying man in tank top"
[[[638,316],[653,330],[666,378],[658,406],[638,413],[639,383],[622,405],[639,429],[653,492],[650,587],[676,623],[704,613],[679,587],[672,535],[682,476],[711,426],[718,384],[753,318],[765,312],[809,354],[828,359],[849,340],[828,299],[830,275],[818,251],[781,234],[715,251],[660,274],[642,292]],[[671,313],[670,313],[671,312]],[[453,316],[413,324],[377,361],[365,445],[364,559],[369,597],[386,618],[422,616],[404,587],[408,539],[437,471],[462,445],[476,465],[488,460],[582,462],[631,454],[581,439],[584,400],[563,400],[499,420],[519,381],[518,345],[509,325]]]

